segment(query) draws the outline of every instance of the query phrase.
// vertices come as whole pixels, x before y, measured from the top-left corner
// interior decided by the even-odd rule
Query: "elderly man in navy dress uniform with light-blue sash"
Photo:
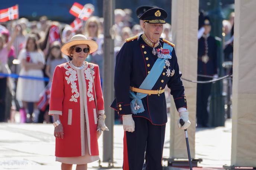
[[[122,116],[124,128],[124,170],[161,170],[164,133],[167,122],[164,88],[171,89],[176,108],[188,118],[184,86],[174,45],[160,39],[167,13],[160,8],[140,16],[144,33],[128,38],[116,56],[115,100],[111,107]]]

